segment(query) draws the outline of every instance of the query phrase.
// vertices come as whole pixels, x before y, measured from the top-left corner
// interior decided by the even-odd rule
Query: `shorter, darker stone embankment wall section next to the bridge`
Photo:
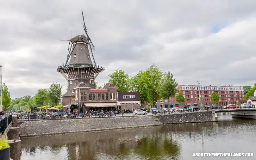
[[[191,122],[213,122],[217,121],[215,118],[214,111],[203,111],[203,112],[188,112],[188,113],[177,113],[171,115],[158,115],[155,116],[163,124],[174,124],[174,123],[191,123]]]

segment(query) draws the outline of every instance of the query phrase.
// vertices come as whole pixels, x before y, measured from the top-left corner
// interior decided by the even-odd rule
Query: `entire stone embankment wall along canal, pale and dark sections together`
[[[158,120],[156,120],[156,118]],[[75,118],[53,120],[24,120],[20,136],[86,132],[108,129],[155,126],[172,123],[216,121],[214,111],[165,114],[156,116],[124,116],[110,118]]]

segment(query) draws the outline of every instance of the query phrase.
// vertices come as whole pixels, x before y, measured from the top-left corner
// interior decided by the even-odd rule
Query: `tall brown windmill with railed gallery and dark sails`
[[[63,95],[64,106],[68,105],[67,102],[75,96],[74,88],[80,85],[80,82],[85,84],[84,87],[94,89],[96,77],[105,70],[104,67],[96,65],[92,51],[95,51],[95,47],[87,33],[83,10],[82,17],[85,34],[77,35],[69,40],[60,40],[69,41],[67,60],[57,68],[57,72],[60,72],[68,81],[67,92]]]

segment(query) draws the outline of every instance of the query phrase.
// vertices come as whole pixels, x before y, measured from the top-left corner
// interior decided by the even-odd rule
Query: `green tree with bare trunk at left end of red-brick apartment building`
[[[179,91],[177,88],[178,83],[173,78],[173,74],[168,71],[167,75],[164,75],[164,82],[161,85],[160,94],[163,99],[168,99],[168,108],[170,108],[170,98],[174,97]]]

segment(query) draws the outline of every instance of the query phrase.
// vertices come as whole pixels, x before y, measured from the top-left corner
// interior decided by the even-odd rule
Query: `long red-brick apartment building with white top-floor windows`
[[[220,99],[218,105],[225,106],[228,104],[236,104],[237,102],[245,103],[244,89],[241,86],[198,86],[198,85],[177,85],[179,92],[185,97],[183,106],[199,106],[199,95],[201,96],[201,105],[211,105],[211,94],[216,92]],[[199,94],[200,93],[200,94]],[[176,104],[175,97],[170,101]],[[157,100],[157,107],[165,107],[168,100]],[[158,106],[159,105],[159,106]]]

